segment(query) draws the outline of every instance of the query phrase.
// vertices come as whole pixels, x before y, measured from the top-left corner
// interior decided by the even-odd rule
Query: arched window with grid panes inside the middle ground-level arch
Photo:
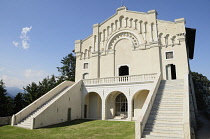
[[[127,116],[127,111],[127,98],[123,93],[121,93],[115,99],[115,116]]]

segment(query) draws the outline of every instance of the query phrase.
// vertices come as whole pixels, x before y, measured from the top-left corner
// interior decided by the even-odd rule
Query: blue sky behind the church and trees
[[[156,9],[158,19],[184,17],[197,29],[192,71],[210,79],[210,0],[124,0],[132,11]],[[121,0],[0,0],[0,79],[22,88],[59,75],[60,60],[74,41],[92,33],[92,25],[112,16]]]

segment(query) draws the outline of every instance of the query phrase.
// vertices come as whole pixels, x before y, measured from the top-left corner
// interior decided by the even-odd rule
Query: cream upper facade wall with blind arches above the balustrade
[[[90,79],[119,76],[122,65],[129,66],[129,75],[161,72],[166,79],[168,64],[176,65],[176,77],[183,79],[189,72],[185,34],[182,18],[164,21],[157,19],[155,10],[142,13],[118,8],[103,23],[93,25],[91,36],[76,41],[76,81],[84,73]],[[85,57],[90,47],[91,54]],[[168,51],[173,51],[173,59],[165,58]],[[85,62],[88,69],[83,68]]]

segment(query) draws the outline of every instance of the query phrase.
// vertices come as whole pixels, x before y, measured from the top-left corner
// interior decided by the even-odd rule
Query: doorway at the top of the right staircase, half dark
[[[166,78],[167,80],[176,80],[176,65],[169,64],[166,66]]]

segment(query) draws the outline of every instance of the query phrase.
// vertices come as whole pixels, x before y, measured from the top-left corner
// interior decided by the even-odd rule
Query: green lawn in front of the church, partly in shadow
[[[40,129],[0,127],[0,139],[134,139],[134,122],[74,120]]]

